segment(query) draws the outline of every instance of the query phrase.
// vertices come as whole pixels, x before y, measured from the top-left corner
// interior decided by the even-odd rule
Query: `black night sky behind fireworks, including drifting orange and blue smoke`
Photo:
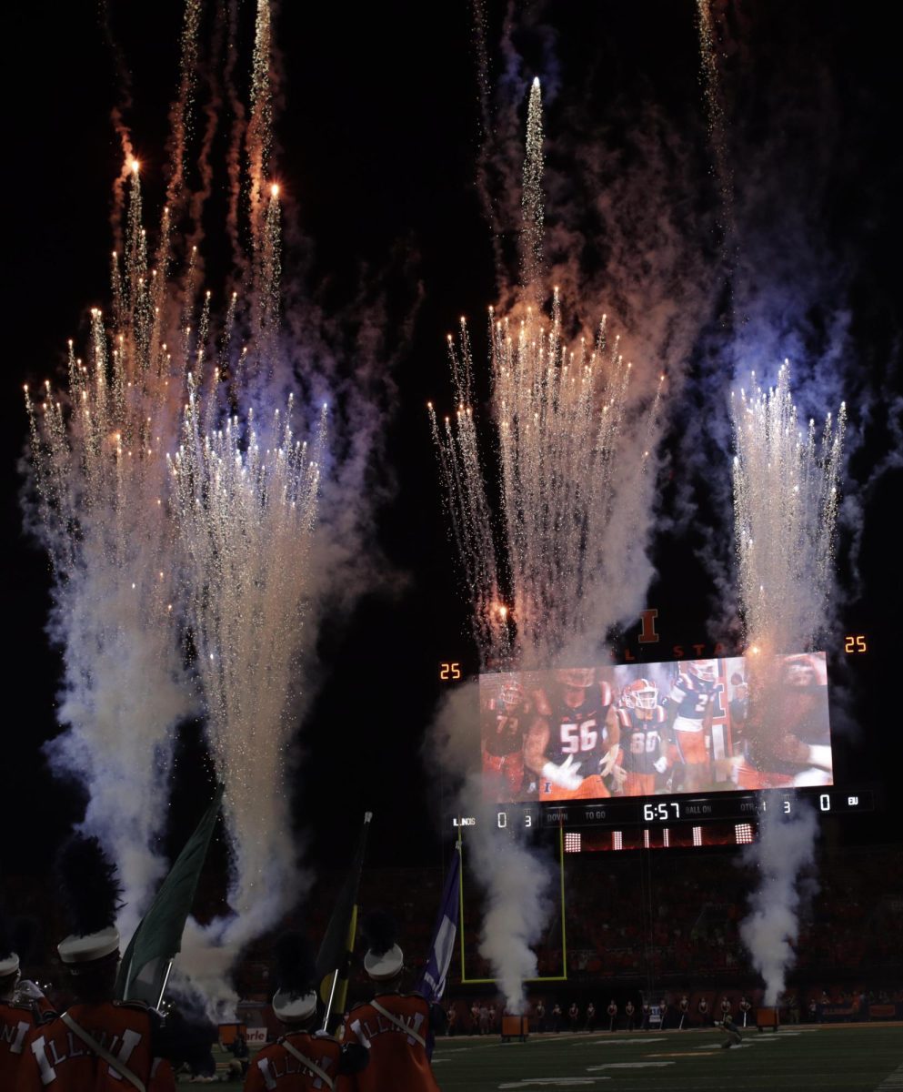
[[[116,0],[107,8],[131,71],[134,105],[125,117],[153,223],[180,9]],[[284,105],[275,162],[287,192],[286,280],[293,297],[315,300],[332,318],[341,383],[354,381],[342,336],[362,285],[371,300],[383,294],[388,317],[382,448],[369,479],[370,586],[322,629],[317,697],[300,733],[294,810],[310,859],[344,856],[365,807],[375,812],[373,863],[437,858],[443,785],[421,748],[441,693],[438,663],[456,660],[472,669],[475,652],[425,403],[452,408],[445,335],[467,314],[480,359],[482,316],[516,273],[517,194],[505,191],[504,179],[519,166],[535,74],[545,88],[550,264],[583,285],[583,321],[607,310],[628,352],[638,359],[658,354],[649,366],[670,377],[651,544],[659,577],[648,595],[661,612],[664,648],[734,637],[724,411],[733,370],[751,366],[773,379],[788,356],[806,414],[822,417],[846,399],[839,618],[830,650],[834,723],[845,728],[838,782],[883,783],[888,791],[890,810],[862,820],[851,838],[899,840],[892,808],[903,758],[894,548],[903,173],[891,35],[875,9],[840,0],[719,5],[726,12],[720,63],[735,223],[725,258],[696,5],[606,0],[515,8],[510,19],[502,4],[484,9],[495,85],[495,131],[487,136],[469,4],[286,2],[276,17]],[[12,709],[3,782],[16,836],[4,839],[0,867],[11,873],[41,871],[82,806],[77,788],[55,782],[40,757],[56,731],[59,660],[44,633],[48,566],[21,531],[16,461],[26,431],[22,383],[57,376],[67,339],[84,339],[88,308],[107,299],[110,189],[121,159],[109,112],[122,83],[105,22],[99,5],[86,2],[20,5],[5,16],[14,72],[7,88],[2,400]],[[502,268],[478,185],[484,138]],[[214,232],[208,246],[213,265]],[[643,278],[654,282],[654,294],[637,288]],[[658,322],[650,301],[662,299],[679,310],[667,334],[643,325]],[[868,653],[855,662],[842,653],[847,632],[868,641]],[[197,726],[186,725],[182,736],[173,844],[203,807],[192,791],[203,768]]]

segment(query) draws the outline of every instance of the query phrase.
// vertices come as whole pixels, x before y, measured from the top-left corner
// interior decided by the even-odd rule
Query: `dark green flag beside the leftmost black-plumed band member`
[[[222,793],[224,786],[220,785],[139,923],[119,964],[116,981],[116,997],[119,1000],[146,1001],[154,1007],[159,1005],[172,960],[182,947],[185,919],[194,902]]]

